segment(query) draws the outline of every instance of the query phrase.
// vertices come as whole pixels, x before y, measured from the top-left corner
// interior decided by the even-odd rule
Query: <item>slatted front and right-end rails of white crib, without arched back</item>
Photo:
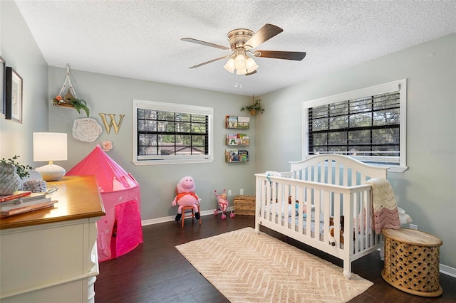
[[[289,173],[255,177],[257,230],[264,225],[339,257],[348,275],[351,261],[380,247],[380,235],[375,235],[371,223],[371,186],[304,181]]]

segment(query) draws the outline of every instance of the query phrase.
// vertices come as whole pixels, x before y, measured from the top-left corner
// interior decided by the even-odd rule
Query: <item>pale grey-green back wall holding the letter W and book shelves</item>
[[[55,97],[65,80],[66,68],[49,67],[49,96]],[[142,198],[142,220],[175,216],[177,208],[171,206],[175,198],[175,186],[184,176],[192,176],[197,186],[197,194],[202,198],[202,211],[217,207],[214,190],[231,189],[233,195],[245,188],[246,194],[254,194],[254,163],[227,164],[224,161],[225,137],[233,129],[224,128],[225,115],[245,115],[240,108],[251,97],[230,95],[222,92],[199,90],[190,87],[151,83],[130,78],[87,73],[70,70],[70,77],[78,98],[86,100],[90,108],[90,118],[97,120],[103,133],[95,142],[81,142],[73,138],[72,128],[75,119],[86,117],[76,110],[62,107],[49,107],[49,130],[68,133],[68,161],[58,164],[67,171],[92,151],[104,139],[113,142],[108,156],[114,159],[139,182]],[[187,105],[214,107],[214,161],[209,164],[168,164],[135,166],[133,159],[133,99],[172,102]],[[114,114],[116,121],[125,115],[120,131],[108,134],[100,113]],[[108,119],[109,121],[109,119]],[[245,131],[252,135],[251,146],[254,154],[255,119],[251,119],[251,129]],[[242,131],[244,132],[244,131]],[[234,196],[229,197],[233,201]]]

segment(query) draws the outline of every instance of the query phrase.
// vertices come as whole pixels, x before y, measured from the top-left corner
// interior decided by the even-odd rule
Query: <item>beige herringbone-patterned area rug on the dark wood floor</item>
[[[230,302],[348,302],[373,285],[253,228],[176,248]]]

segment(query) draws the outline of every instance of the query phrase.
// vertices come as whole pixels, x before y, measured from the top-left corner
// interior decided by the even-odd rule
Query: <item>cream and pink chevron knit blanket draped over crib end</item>
[[[386,179],[370,179],[366,184],[372,186],[373,227],[379,235],[383,228],[400,228],[398,205],[393,188]]]

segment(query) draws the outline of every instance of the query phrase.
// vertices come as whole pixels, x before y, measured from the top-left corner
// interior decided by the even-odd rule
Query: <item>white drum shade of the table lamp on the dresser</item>
[[[33,161],[64,161],[67,159],[66,134],[33,132]]]

